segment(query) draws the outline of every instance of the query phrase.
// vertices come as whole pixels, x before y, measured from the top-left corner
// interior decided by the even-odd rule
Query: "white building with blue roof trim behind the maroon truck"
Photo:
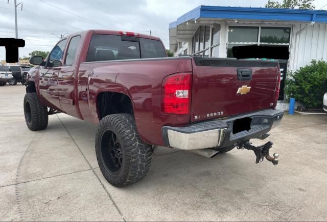
[[[279,108],[284,103],[287,70],[327,61],[327,11],[199,6],[169,25],[174,56],[233,58],[236,45],[288,47],[289,60],[279,60],[282,72]]]

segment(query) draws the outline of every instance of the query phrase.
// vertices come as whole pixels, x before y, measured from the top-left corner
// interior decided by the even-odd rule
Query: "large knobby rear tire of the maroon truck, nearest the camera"
[[[113,163],[112,157],[104,158],[108,156],[106,149],[110,150],[110,148],[107,148],[110,145],[106,145],[106,142],[111,143],[107,138],[108,133],[112,135],[112,132],[115,134],[116,143],[120,144],[120,157],[122,157],[122,164],[117,172],[109,169],[108,164]],[[128,186],[147,175],[151,164],[152,147],[143,143],[139,137],[132,115],[113,114],[105,116],[99,122],[95,144],[100,170],[106,180],[113,186]]]

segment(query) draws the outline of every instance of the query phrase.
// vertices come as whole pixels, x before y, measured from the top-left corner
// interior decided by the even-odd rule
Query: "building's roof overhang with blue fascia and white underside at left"
[[[169,24],[170,49],[174,51],[178,41],[189,41],[197,27],[229,20],[252,22],[321,22],[327,23],[327,11],[303,9],[269,9],[222,6],[199,6]]]

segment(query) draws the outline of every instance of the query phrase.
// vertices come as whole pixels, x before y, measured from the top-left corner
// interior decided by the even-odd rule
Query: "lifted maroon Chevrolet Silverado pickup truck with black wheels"
[[[89,30],[61,39],[29,72],[24,98],[31,130],[48,116],[98,124],[95,148],[103,176],[123,187],[144,178],[157,146],[212,157],[252,150],[256,162],[272,143],[255,147],[278,125],[281,75],[277,61],[204,57],[168,58],[159,38]]]

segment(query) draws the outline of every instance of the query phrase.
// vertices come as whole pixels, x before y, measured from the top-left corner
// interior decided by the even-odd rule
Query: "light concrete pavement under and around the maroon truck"
[[[271,131],[279,164],[252,151],[212,159],[158,148],[142,181],[102,176],[97,125],[64,114],[30,131],[25,87],[0,87],[0,220],[327,220],[327,115],[290,116]]]

